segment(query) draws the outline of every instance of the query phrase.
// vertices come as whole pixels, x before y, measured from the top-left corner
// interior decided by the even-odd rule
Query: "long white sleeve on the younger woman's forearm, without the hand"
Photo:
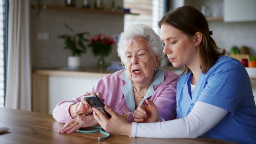
[[[145,138],[197,138],[218,124],[227,113],[224,109],[197,101],[185,118],[157,123],[133,123],[130,136]]]

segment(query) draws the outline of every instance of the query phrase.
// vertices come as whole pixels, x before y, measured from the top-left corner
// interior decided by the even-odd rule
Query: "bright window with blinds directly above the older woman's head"
[[[167,0],[124,0],[124,8],[131,9],[131,13],[140,15],[126,14],[124,18],[124,30],[128,26],[143,23],[150,26],[160,35],[158,21],[166,13]]]

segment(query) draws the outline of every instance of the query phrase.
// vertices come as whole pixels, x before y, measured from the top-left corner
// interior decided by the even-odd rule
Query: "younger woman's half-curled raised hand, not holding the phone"
[[[133,117],[135,122],[153,123],[162,121],[158,115],[157,106],[153,101],[146,99],[148,106],[140,105],[134,112]]]

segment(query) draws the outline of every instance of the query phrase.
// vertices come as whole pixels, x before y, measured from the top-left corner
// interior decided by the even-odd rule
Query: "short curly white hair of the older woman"
[[[162,67],[164,54],[161,39],[151,27],[145,24],[131,25],[119,36],[117,53],[121,59],[121,64],[125,64],[125,47],[130,46],[137,38],[142,38],[146,41],[156,60],[159,60],[158,67]]]

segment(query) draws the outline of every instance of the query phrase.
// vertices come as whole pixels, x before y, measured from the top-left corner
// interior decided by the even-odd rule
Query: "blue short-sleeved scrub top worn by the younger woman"
[[[196,101],[227,110],[229,113],[202,137],[256,144],[256,106],[246,69],[239,60],[221,56],[204,74],[193,92],[192,73],[184,73],[177,82],[177,116],[186,117]]]

